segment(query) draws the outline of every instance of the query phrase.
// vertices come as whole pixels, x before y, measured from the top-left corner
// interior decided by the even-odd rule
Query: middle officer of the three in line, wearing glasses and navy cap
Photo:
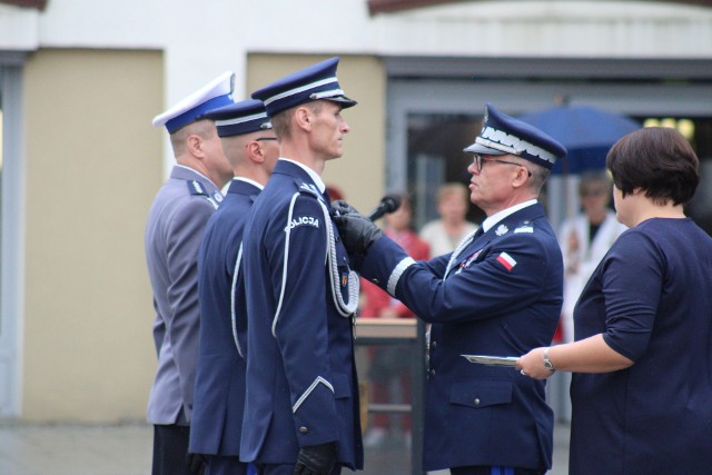
[[[200,350],[190,452],[206,455],[207,475],[245,475],[254,468],[239,461],[247,368],[243,229],[279,146],[261,101],[240,101],[206,117],[215,120],[235,178],[208,220],[198,255]]]

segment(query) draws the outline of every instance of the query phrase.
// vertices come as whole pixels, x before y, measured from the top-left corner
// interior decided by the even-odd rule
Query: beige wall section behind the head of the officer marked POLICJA
[[[283,76],[307,67],[329,56],[249,55],[247,91],[237,91],[243,99],[253,91]],[[356,107],[344,110],[350,127],[345,139],[344,156],[326,165],[323,178],[337,186],[362,212],[374,208],[385,187],[385,110],[386,73],[380,59],[370,56],[342,56],[337,69],[338,82]]]

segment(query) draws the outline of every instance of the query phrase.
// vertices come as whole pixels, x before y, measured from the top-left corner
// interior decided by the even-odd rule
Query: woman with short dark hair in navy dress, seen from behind
[[[629,226],[574,309],[575,342],[517,368],[572,372],[571,474],[700,474],[712,467],[712,238],[685,217],[700,175],[674,129],[645,128],[606,158]]]

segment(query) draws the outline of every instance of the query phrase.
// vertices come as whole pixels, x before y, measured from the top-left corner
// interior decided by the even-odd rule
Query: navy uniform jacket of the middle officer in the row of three
[[[238,456],[245,406],[245,291],[236,265],[259,188],[235,179],[209,219],[198,255],[200,349],[190,452]],[[238,335],[241,343],[238,343]]]

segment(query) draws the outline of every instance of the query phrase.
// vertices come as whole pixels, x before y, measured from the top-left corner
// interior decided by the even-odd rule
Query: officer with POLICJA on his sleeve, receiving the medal
[[[349,128],[338,58],[253,93],[280,158],[244,234],[247,399],[240,458],[260,474],[363,466],[353,317],[358,277],[332,222],[320,174]]]

